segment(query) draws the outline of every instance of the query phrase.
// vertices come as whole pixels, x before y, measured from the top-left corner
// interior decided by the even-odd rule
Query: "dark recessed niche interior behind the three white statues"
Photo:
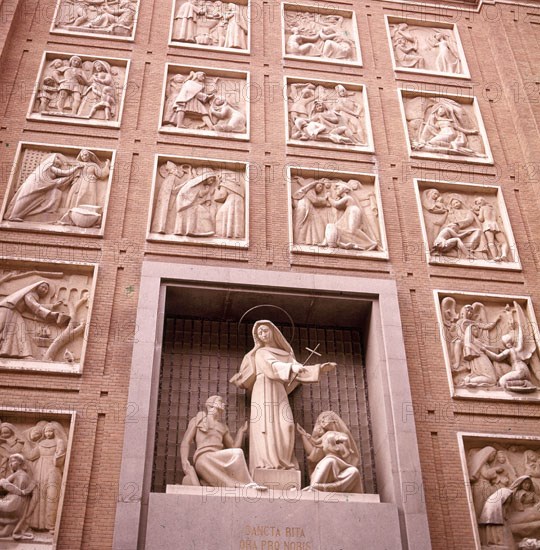
[[[252,308],[255,309],[250,311]],[[312,356],[308,364],[322,361],[338,364],[337,369],[322,375],[319,383],[302,384],[290,393],[294,421],[311,434],[321,412],[337,413],[358,445],[364,493],[377,493],[362,360],[363,332],[370,311],[368,300],[337,295],[169,286],[151,491],[163,493],[167,485],[182,484],[180,443],[190,419],[205,410],[209,396],[223,398],[224,420],[233,436],[249,419],[247,392],[229,380],[253,347],[254,322],[268,319],[281,330],[300,363],[309,356],[306,348],[319,345],[317,352],[321,357]],[[246,438],[243,445],[246,459],[248,449]],[[295,452],[302,487],[306,487],[309,485],[306,453],[298,433]]]

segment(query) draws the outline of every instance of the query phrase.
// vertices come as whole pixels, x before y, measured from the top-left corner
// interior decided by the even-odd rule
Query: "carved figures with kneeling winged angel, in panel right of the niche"
[[[458,315],[451,297],[442,300],[441,313],[457,387],[537,391],[540,358],[530,323],[517,302],[493,321],[481,302],[464,305]]]

